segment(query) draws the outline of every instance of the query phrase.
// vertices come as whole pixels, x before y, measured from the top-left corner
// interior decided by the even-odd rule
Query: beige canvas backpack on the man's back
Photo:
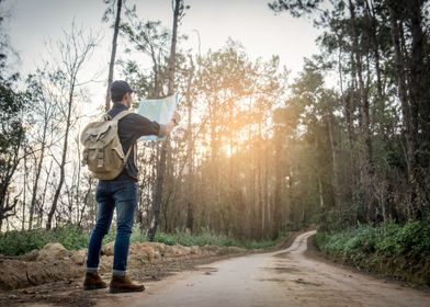
[[[124,155],[117,133],[118,121],[131,114],[120,112],[112,120],[105,114],[101,121],[88,124],[80,136],[83,145],[82,166],[88,166],[92,175],[100,180],[113,180],[124,169],[133,146]]]

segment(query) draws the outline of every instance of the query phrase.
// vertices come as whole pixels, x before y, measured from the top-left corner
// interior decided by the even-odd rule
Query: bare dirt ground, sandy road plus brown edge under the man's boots
[[[0,306],[430,306],[427,288],[324,258],[313,243],[314,234],[291,238],[278,251],[146,263],[129,270],[132,278],[145,284],[144,293],[84,292],[79,277],[0,292]],[[109,282],[110,275],[103,278]]]

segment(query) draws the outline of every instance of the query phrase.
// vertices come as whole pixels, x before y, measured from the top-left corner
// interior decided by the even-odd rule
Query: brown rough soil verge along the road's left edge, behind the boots
[[[280,250],[285,247],[288,247],[293,241],[294,238],[298,235],[298,232],[293,232],[292,236],[288,237],[288,239],[280,242],[278,246],[270,248],[268,250],[273,251],[273,250]],[[202,248],[204,249],[204,248]],[[223,249],[223,250],[219,250]],[[233,257],[238,257],[242,255],[245,253],[261,253],[264,252],[264,250],[253,250],[253,251],[248,251],[248,252],[240,252],[239,251],[233,251],[231,253],[225,251],[226,248],[217,248],[217,247],[207,247],[207,250],[214,250],[214,252],[218,253],[227,253],[227,254],[218,254],[218,255],[195,255],[193,258],[190,257],[178,257],[178,258],[172,258],[172,259],[167,259],[163,261],[145,261],[142,265],[133,265],[133,269],[128,269],[128,274],[131,277],[138,282],[138,283],[158,283],[159,281],[162,281],[165,278],[168,278],[172,275],[178,274],[179,272],[182,271],[199,271],[201,270],[199,266],[205,265],[212,262],[229,259]],[[234,249],[234,248],[229,248]],[[265,251],[268,251],[265,250]],[[23,257],[25,260],[36,260],[37,254],[34,253],[34,251],[27,255]],[[84,307],[84,306],[94,306],[97,302],[103,302],[104,299],[109,300],[116,300],[115,296],[110,295],[106,289],[99,289],[99,291],[83,291],[82,289],[82,282],[83,282],[83,268],[78,266],[72,266],[72,263],[68,260],[49,260],[48,262],[44,263],[38,263],[38,262],[20,262],[20,259],[18,258],[2,258],[0,261],[11,261],[10,265],[14,265],[14,271],[22,270],[24,273],[23,275],[26,275],[27,281],[25,281],[26,284],[32,284],[32,282],[35,280],[33,276],[29,275],[31,274],[37,275],[39,278],[43,276],[45,278],[42,281],[41,285],[34,285],[34,286],[25,286],[23,288],[16,288],[16,289],[9,289],[8,285],[3,285],[3,289],[0,287],[0,306],[8,306],[8,307],[13,307],[13,306],[35,306],[35,307],[41,307],[41,306],[77,306],[77,307]],[[13,262],[12,262],[13,261]],[[111,274],[110,270],[105,270],[103,266],[109,266],[112,261],[112,259],[102,259],[101,263],[103,264],[103,261],[105,262],[105,265],[102,265],[102,278],[109,283]],[[55,263],[53,266],[52,263]],[[70,265],[68,270],[65,270],[65,265]],[[41,266],[41,268],[39,268]],[[137,268],[136,268],[137,266]],[[61,271],[61,268],[64,271],[71,271],[67,272],[67,274],[58,274],[58,272],[54,272],[53,270],[55,269],[56,271]],[[78,270],[78,272],[77,272]],[[37,272],[34,272],[37,271]],[[73,273],[75,271],[75,273]],[[77,273],[76,273],[77,272]],[[18,273],[18,272],[13,272]],[[104,273],[104,274],[103,274]],[[21,275],[22,275],[21,274]],[[211,272],[206,272],[206,274],[211,274]],[[19,274],[16,274],[19,275]],[[53,281],[53,282],[45,282],[46,280],[57,278],[59,281]],[[64,276],[73,276],[73,277],[68,277],[64,278]],[[8,278],[7,278],[8,280]],[[0,281],[1,282],[1,281]]]

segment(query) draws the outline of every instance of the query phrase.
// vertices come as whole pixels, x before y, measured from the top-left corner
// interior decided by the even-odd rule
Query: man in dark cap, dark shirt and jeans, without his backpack
[[[112,109],[108,115],[113,118],[122,111],[128,110],[133,103],[133,89],[125,81],[114,81],[111,86]],[[113,212],[116,208],[116,238],[111,293],[142,292],[144,285],[134,284],[126,275],[129,237],[133,230],[134,214],[137,206],[137,166],[136,140],[144,135],[167,136],[178,125],[179,114],[167,124],[151,122],[139,114],[128,114],[118,122],[118,137],[124,152],[131,149],[124,170],[114,180],[100,180],[95,189],[98,203],[97,224],[92,230],[88,247],[87,273],[84,289],[105,288],[106,283],[98,273],[100,251],[103,237],[108,234]]]

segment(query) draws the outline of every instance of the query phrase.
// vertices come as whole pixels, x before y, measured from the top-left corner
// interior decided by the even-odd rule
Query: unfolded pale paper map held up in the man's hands
[[[163,99],[145,99],[140,101],[137,113],[150,121],[166,125],[172,118],[177,110],[178,94]],[[166,137],[143,136],[139,140],[162,140]]]

